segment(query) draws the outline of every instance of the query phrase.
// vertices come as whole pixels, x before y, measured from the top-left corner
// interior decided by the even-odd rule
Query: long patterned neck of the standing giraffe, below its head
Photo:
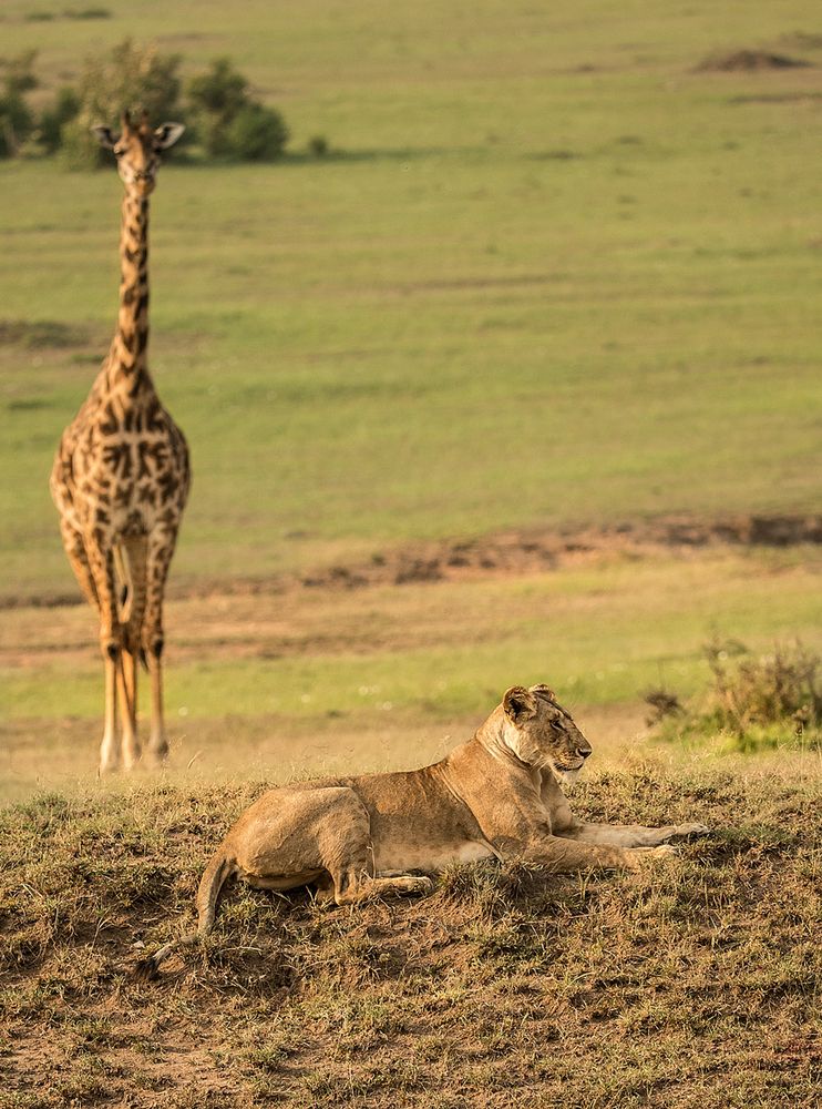
[[[120,311],[106,384],[135,397],[152,388],[148,347],[148,197],[126,190],[120,233]]]

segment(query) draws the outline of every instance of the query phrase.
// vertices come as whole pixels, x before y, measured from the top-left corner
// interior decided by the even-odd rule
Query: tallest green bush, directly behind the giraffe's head
[[[124,111],[146,111],[158,123],[179,118],[178,54],[161,54],[156,45],[141,48],[124,39],[102,59],[86,58],[80,77],[76,114],[61,126],[64,156],[74,169],[106,160],[91,128],[116,128]]]

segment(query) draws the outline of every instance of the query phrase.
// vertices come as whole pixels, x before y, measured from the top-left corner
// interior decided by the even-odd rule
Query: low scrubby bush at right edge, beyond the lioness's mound
[[[800,641],[757,654],[736,640],[705,648],[711,673],[706,694],[681,705],[675,694],[646,698],[664,737],[728,736],[738,751],[822,741],[822,660]],[[667,702],[667,704],[666,704]]]

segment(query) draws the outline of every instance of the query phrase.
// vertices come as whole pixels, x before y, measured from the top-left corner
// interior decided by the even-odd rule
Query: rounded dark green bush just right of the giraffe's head
[[[215,59],[192,79],[188,103],[195,133],[213,157],[275,159],[288,141],[282,116],[249,94],[248,81],[228,58]]]

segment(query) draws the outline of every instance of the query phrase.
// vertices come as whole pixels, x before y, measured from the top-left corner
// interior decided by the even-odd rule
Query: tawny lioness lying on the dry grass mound
[[[424,894],[434,872],[496,856],[552,871],[637,867],[675,835],[702,824],[646,828],[580,824],[559,783],[571,782],[590,744],[547,685],[514,685],[467,743],[433,766],[323,779],[270,790],[239,817],[205,869],[197,932],[166,944],[138,967],[153,977],[166,956],[210,932],[232,876],[258,889],[316,884],[338,905],[387,894]]]

